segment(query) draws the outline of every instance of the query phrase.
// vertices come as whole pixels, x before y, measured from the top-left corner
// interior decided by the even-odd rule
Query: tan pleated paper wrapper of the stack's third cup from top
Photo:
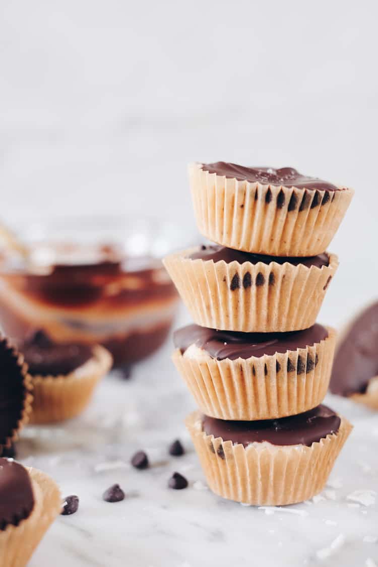
[[[242,421],[292,416],[315,408],[326,395],[336,338],[327,329],[325,340],[284,354],[218,361],[184,357],[176,349],[172,359],[207,416]],[[288,359],[294,371],[287,371]]]

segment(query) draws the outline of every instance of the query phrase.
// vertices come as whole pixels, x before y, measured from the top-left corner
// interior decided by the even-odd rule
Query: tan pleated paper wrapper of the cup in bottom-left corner
[[[44,472],[27,468],[31,476],[34,507],[18,526],[0,531],[0,565],[25,567],[50,524],[61,513],[62,498],[56,483]]]

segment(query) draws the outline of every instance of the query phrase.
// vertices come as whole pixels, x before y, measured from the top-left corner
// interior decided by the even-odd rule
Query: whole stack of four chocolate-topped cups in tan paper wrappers
[[[199,411],[186,425],[213,492],[284,505],[324,487],[351,425],[321,405],[335,331],[316,323],[338,266],[325,252],[352,189],[292,168],[194,163],[198,229],[217,243],[165,258],[196,324],[173,361]]]

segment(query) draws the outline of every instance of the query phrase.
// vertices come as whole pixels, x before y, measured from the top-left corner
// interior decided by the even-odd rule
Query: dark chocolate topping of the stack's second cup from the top
[[[318,256],[307,256],[303,258],[286,257],[286,256],[263,256],[262,254],[253,254],[250,252],[241,252],[240,250],[234,250],[233,248],[226,248],[224,246],[219,246],[218,244],[211,244],[209,246],[201,246],[197,252],[193,252],[189,258],[191,260],[213,260],[214,262],[220,262],[224,260],[226,264],[231,264],[231,262],[236,261],[239,264],[244,264],[244,262],[250,262],[251,264],[257,264],[262,262],[263,264],[270,264],[271,262],[277,262],[278,264],[284,264],[288,262],[294,266],[303,264],[306,268],[311,268],[315,266],[316,268],[321,268],[322,266],[328,266],[329,256],[326,252],[319,254]]]

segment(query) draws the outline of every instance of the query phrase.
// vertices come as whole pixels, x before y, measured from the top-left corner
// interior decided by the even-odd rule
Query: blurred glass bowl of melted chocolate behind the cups
[[[116,365],[135,362],[162,344],[177,303],[160,260],[117,246],[36,246],[29,264],[0,259],[0,323],[18,343],[43,329],[57,343],[104,344]]]

